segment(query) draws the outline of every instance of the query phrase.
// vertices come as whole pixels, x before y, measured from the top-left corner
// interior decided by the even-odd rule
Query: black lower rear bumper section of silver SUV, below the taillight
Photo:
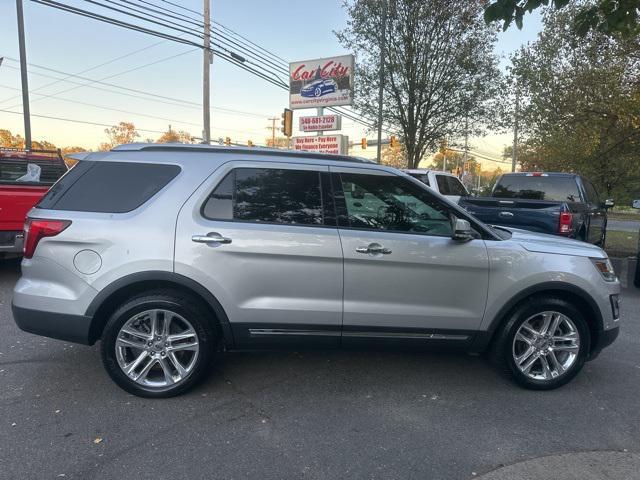
[[[89,345],[91,317],[45,312],[11,304],[13,319],[21,330],[44,337]]]

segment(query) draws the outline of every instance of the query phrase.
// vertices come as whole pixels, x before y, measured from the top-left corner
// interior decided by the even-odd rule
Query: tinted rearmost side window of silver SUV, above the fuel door
[[[147,202],[178,173],[177,165],[81,161],[49,190],[38,208],[126,213]]]

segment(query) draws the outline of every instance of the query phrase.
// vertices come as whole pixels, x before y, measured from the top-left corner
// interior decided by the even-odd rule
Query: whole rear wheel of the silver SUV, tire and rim
[[[102,335],[102,360],[111,378],[142,397],[186,392],[207,374],[214,329],[197,299],[173,291],[135,296],[118,308]]]

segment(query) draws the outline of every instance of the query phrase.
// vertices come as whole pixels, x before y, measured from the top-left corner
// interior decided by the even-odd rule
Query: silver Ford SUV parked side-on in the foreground
[[[91,345],[125,390],[177,395],[217,350],[488,351],[525,387],[618,334],[598,247],[479,222],[393,168],[282,150],[85,154],[25,225],[13,314]]]

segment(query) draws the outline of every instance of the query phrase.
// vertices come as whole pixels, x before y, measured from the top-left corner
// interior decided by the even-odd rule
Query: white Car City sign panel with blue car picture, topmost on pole
[[[353,103],[353,55],[289,64],[289,108]]]

